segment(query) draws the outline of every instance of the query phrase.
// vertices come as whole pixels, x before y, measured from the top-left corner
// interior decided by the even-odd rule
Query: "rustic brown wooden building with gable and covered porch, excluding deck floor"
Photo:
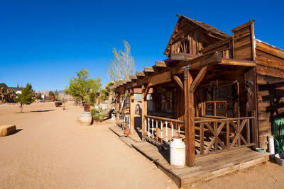
[[[114,86],[118,124],[130,127],[131,133],[141,130],[143,140],[158,147],[167,147],[176,135],[184,137],[187,166],[195,166],[197,156],[219,151],[267,149],[272,121],[283,114],[284,51],[256,40],[254,21],[228,35],[178,17],[165,49],[168,58]],[[137,90],[142,93],[138,129],[133,104]],[[125,91],[127,104],[121,98]]]

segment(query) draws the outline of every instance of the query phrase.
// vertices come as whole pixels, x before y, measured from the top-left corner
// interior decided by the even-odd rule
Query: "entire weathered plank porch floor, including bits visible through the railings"
[[[256,164],[261,164],[269,160],[268,153],[258,153],[248,147],[240,146],[234,147],[230,150],[219,150],[208,154],[200,153],[200,137],[195,135],[195,166],[185,166],[184,168],[176,168],[170,166],[170,151],[160,151],[153,143],[142,142],[138,137],[141,134],[135,131],[134,134],[125,136],[121,127],[115,125],[110,129],[116,133],[119,138],[125,142],[129,147],[134,147],[141,152],[148,159],[160,168],[172,181],[174,181],[179,188],[186,188],[192,183],[200,181],[207,181],[218,176],[223,176],[233,171],[239,171],[243,168],[248,168]],[[178,130],[173,130],[174,134],[178,134]],[[180,132],[180,136],[185,137],[184,132]],[[152,139],[150,136],[147,140]],[[165,140],[165,136],[163,137]],[[152,139],[154,141],[154,139]],[[204,142],[205,146],[209,146],[210,142]],[[212,148],[214,151],[214,147]]]

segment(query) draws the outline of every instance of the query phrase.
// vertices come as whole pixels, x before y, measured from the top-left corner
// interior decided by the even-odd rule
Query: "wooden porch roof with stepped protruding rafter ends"
[[[160,82],[165,83],[165,81],[170,81],[175,74],[182,74],[182,69],[185,67],[190,70],[199,70],[202,67],[210,67],[213,64],[230,67],[256,67],[255,61],[222,58],[222,52],[211,52],[202,56],[176,55],[173,59],[168,58],[164,61],[155,61],[152,67],[145,67],[143,71],[136,71],[136,75],[131,75],[123,81],[117,81],[113,88],[137,88],[142,84],[149,83],[154,76],[160,79]],[[152,85],[162,84],[160,82],[155,82]]]

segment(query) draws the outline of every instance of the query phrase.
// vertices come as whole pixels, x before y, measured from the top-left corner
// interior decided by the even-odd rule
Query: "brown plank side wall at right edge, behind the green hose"
[[[267,136],[275,117],[284,117],[284,51],[256,40],[259,145],[267,149]]]

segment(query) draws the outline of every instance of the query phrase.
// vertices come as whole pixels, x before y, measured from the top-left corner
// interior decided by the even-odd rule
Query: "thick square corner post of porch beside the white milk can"
[[[192,74],[185,67],[185,164],[195,166],[194,91],[190,91]]]

